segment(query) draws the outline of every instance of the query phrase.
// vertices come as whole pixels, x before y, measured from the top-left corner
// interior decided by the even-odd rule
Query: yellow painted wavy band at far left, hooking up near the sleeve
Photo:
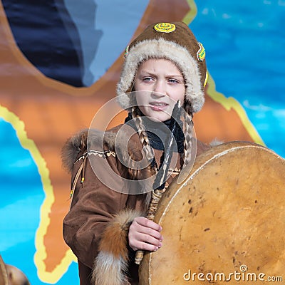
[[[46,161],[43,159],[38,147],[36,147],[35,142],[28,138],[24,122],[17,115],[1,105],[0,118],[3,118],[12,125],[21,146],[30,152],[33,161],[38,167],[38,172],[43,184],[43,191],[46,197],[41,205],[40,224],[36,231],[36,254],[34,255],[34,263],[38,269],[38,278],[43,282],[53,284],[61,279],[61,276],[63,276],[67,271],[68,266],[71,264],[71,261],[76,261],[77,259],[71,252],[71,249],[69,249],[66,252],[66,256],[61,261],[61,264],[58,264],[54,271],[46,272],[46,266],[43,262],[43,260],[46,259],[46,247],[43,244],[43,237],[45,236],[48,224],[50,223],[48,214],[51,212],[51,205],[54,202],[53,186],[51,185],[51,180],[49,178],[49,170],[48,167],[46,167]]]

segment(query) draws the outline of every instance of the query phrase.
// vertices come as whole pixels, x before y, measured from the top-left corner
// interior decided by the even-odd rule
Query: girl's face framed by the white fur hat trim
[[[154,121],[169,120],[177,100],[182,104],[184,101],[185,83],[182,73],[175,63],[163,58],[149,59],[140,64],[134,87],[138,107]]]

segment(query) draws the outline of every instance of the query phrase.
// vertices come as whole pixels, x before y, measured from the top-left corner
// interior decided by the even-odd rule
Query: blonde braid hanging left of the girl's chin
[[[138,136],[140,138],[140,142],[142,143],[142,150],[145,152],[147,160],[152,160],[153,152],[150,147],[150,141],[147,138],[147,133],[145,131],[145,126],[142,123],[142,118],[139,113],[139,109],[137,106],[133,106],[132,108],[132,118],[135,120],[135,126],[138,129]]]

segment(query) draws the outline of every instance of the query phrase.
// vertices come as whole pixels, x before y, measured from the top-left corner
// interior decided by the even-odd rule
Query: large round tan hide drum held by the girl
[[[282,284],[285,160],[261,145],[229,142],[197,157],[187,173],[160,200],[155,222],[164,239],[142,259],[140,285]]]

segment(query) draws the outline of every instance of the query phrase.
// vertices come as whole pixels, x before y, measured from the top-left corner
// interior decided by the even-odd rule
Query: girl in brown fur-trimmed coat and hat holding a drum
[[[147,189],[151,190],[150,182],[165,154],[167,132],[160,126],[169,127],[174,104],[180,100],[185,110],[185,132],[177,128],[173,134],[177,159],[167,186],[182,165],[193,159],[192,114],[204,103],[204,56],[202,44],[186,24],[148,26],[125,52],[117,88],[118,102],[129,111],[125,124],[105,132],[102,141],[98,140],[100,133],[88,135],[83,131],[63,147],[63,162],[72,172],[73,192],[63,237],[78,257],[81,284],[138,284],[135,251],[162,247],[162,228],[144,217],[150,202]],[[179,125],[182,127],[181,121]],[[122,128],[133,130],[133,135],[125,141],[120,136],[116,147]],[[127,152],[123,151],[125,145]],[[198,141],[197,155],[208,148]],[[123,161],[118,158],[119,152]],[[147,165],[140,169],[130,166],[144,157]],[[102,170],[105,162],[115,177],[140,182],[135,186],[136,195],[130,194],[128,183],[115,181],[110,171]]]

